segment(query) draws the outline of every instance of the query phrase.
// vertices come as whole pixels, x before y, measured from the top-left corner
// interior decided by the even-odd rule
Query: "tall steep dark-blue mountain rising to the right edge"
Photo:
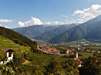
[[[79,26],[73,27],[55,38],[51,43],[69,42],[81,39],[87,39],[93,42],[101,42],[101,16],[91,19]]]

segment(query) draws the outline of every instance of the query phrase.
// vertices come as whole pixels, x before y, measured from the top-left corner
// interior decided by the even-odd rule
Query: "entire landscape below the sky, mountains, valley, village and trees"
[[[96,67],[86,73],[101,74],[99,18],[83,24],[36,25],[12,30],[0,27],[0,74],[82,75],[85,68],[90,70],[90,65]]]

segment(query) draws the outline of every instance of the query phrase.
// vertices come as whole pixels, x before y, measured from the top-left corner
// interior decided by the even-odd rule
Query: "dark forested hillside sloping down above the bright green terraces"
[[[14,41],[17,44],[20,44],[23,46],[29,46],[32,49],[35,49],[35,47],[37,45],[37,42],[31,41],[27,37],[24,37],[21,34],[16,33],[14,31],[4,28],[4,27],[0,27],[0,35]]]

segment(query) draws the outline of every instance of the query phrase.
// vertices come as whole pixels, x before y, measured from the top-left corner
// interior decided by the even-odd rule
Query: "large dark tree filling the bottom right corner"
[[[80,68],[80,75],[100,75],[101,65],[96,62],[95,57],[89,57],[83,62],[83,67]]]

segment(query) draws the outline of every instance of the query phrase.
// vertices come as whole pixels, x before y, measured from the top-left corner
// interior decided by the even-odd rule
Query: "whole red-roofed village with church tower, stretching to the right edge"
[[[77,50],[67,48],[65,50],[65,53],[61,54],[60,50],[58,50],[56,48],[50,48],[49,44],[47,44],[46,46],[45,45],[41,46],[41,49],[37,45],[37,49],[42,51],[45,54],[48,54],[48,55],[57,55],[57,56],[60,56],[60,57],[67,56],[69,58],[74,58],[74,60],[78,63],[78,67],[81,67],[81,65],[82,65],[82,61],[79,59],[78,52],[88,52],[88,53],[96,53],[97,52],[97,53],[101,53],[100,50],[98,50],[98,51],[95,51],[95,50],[93,50],[93,51],[91,51],[91,50],[82,50],[82,49],[80,49],[78,47]]]

